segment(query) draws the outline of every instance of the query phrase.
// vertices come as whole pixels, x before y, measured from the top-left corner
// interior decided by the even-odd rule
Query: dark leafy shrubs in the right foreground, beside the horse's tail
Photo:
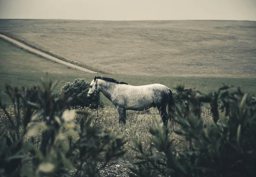
[[[172,146],[169,129],[151,128],[150,152],[137,138],[139,162],[131,177],[151,177],[156,173],[172,177],[254,177],[256,174],[256,97],[239,88],[222,87],[207,95],[178,87],[185,104],[176,105],[175,133],[188,140],[182,152]],[[202,124],[201,104],[208,103],[213,119]],[[221,112],[222,111],[222,112]],[[157,151],[157,152],[155,152]]]

